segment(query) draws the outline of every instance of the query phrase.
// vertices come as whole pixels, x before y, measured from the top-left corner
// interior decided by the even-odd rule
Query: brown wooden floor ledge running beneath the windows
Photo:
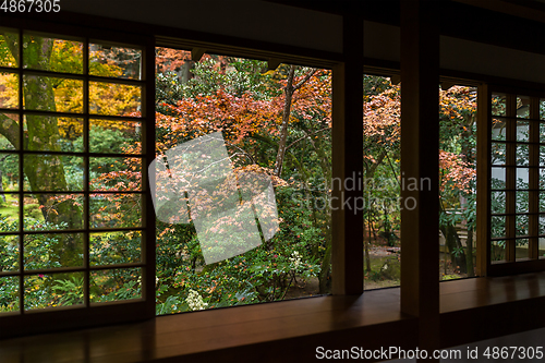
[[[440,291],[444,347],[545,326],[545,273],[447,281]],[[13,338],[0,341],[0,362],[307,362],[318,346],[410,349],[416,331],[393,288]]]

